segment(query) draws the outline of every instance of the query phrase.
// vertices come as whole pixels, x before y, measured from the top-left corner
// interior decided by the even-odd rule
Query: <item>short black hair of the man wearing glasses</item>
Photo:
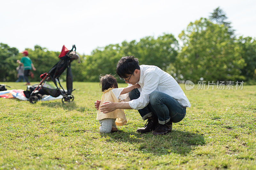
[[[128,74],[133,74],[134,70],[140,70],[139,61],[137,58],[134,58],[134,56],[125,56],[122,57],[116,67],[116,73],[121,78],[127,78]]]

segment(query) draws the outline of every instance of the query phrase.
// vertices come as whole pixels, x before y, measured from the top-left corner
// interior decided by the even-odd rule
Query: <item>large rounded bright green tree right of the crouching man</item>
[[[176,68],[178,79],[194,82],[201,77],[215,82],[245,80],[241,75],[245,61],[225,25],[200,18],[191,22],[179,38],[183,47],[175,64],[170,66]]]

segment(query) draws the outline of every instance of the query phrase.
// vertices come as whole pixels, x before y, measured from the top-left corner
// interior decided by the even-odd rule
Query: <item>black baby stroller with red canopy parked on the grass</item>
[[[74,50],[74,51],[73,51]],[[70,63],[73,60],[78,59],[78,63],[80,63],[80,57],[76,54],[76,46],[73,45],[71,50],[68,50],[64,45],[62,47],[61,53],[59,55],[60,61],[55,64],[48,73],[44,73],[40,75],[42,81],[38,85],[36,85],[35,89],[32,91],[29,97],[30,103],[36,103],[38,100],[42,99],[42,95],[51,95],[53,97],[58,97],[62,95],[62,103],[65,102],[72,102],[74,100],[74,96],[71,95],[73,90],[73,78]],[[63,87],[60,85],[60,75],[65,71],[67,68],[67,90],[64,90]],[[52,81],[54,86],[51,86],[47,81]],[[57,82],[59,83],[60,87],[58,87]],[[43,91],[42,91],[43,90]]]

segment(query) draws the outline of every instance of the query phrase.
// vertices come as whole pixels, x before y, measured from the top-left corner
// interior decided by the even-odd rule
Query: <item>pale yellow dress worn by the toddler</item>
[[[109,102],[115,102],[115,103],[121,102],[121,100],[119,98],[116,98],[112,89],[114,89],[114,88],[109,88],[109,89],[102,92],[103,95],[101,96],[100,106],[102,105],[102,103],[108,102],[108,101]],[[124,89],[124,88],[119,88],[119,89]],[[121,91],[120,91],[120,93],[121,93]],[[105,119],[105,118],[116,119],[116,125],[118,125],[118,126],[123,126],[127,123],[127,120],[126,120],[126,117],[125,117],[125,114],[124,114],[124,109],[116,109],[116,110],[111,111],[109,113],[103,113],[103,112],[100,111],[100,106],[99,106],[99,110],[98,110],[98,113],[97,113],[97,118],[96,118],[97,120],[101,120],[101,119]]]

